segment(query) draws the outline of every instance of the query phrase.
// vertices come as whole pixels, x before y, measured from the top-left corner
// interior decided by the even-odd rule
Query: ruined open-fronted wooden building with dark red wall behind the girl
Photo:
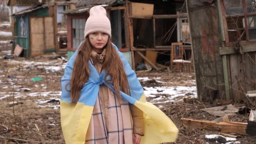
[[[182,58],[191,58],[190,33],[184,0],[79,0],[66,10],[68,58],[84,39],[84,27],[91,7],[107,10],[112,26],[112,42],[135,69],[147,63],[170,65],[172,43],[184,49]],[[186,55],[186,56],[185,56]]]

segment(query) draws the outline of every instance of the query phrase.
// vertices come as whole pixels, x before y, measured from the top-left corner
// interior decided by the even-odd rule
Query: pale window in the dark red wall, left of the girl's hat
[[[72,19],[72,48],[76,49],[85,39],[85,19]]]

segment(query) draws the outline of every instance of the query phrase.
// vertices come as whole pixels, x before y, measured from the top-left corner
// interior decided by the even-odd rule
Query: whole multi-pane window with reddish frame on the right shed
[[[256,40],[256,0],[222,0],[222,3],[226,42]]]

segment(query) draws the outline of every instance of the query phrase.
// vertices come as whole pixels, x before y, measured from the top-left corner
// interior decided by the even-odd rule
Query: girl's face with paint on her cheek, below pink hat
[[[95,32],[89,34],[90,43],[95,48],[96,52],[102,52],[103,47],[108,42],[108,34],[102,32]]]

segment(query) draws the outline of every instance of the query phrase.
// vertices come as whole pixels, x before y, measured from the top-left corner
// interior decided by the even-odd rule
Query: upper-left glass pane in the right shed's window
[[[243,0],[224,0],[226,15],[243,14]]]

